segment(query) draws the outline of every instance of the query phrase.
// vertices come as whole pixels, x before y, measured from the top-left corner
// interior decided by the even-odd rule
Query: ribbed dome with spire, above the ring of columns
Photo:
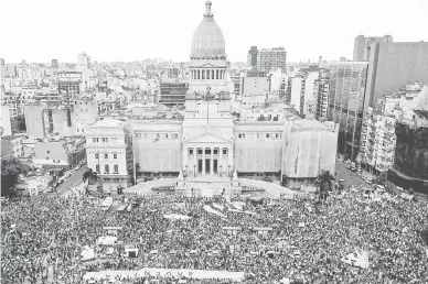
[[[226,58],[224,36],[211,12],[211,1],[205,2],[204,19],[193,34],[191,59]]]

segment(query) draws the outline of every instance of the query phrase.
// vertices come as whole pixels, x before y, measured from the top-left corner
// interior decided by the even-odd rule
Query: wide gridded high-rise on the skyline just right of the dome
[[[280,68],[287,73],[287,51],[283,47],[263,48],[257,56],[257,67],[260,72],[269,73]]]

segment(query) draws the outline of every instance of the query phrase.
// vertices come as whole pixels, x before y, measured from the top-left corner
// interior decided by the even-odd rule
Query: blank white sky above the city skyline
[[[1,1],[6,63],[164,58],[188,62],[205,0]],[[212,0],[232,62],[252,45],[283,46],[287,62],[352,58],[359,34],[428,42],[428,0]]]

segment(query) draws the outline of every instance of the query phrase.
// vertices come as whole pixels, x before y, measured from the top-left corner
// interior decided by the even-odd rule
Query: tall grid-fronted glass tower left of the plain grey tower
[[[355,160],[367,103],[364,92],[368,63],[339,62],[330,68],[328,120],[340,124],[338,152]]]

